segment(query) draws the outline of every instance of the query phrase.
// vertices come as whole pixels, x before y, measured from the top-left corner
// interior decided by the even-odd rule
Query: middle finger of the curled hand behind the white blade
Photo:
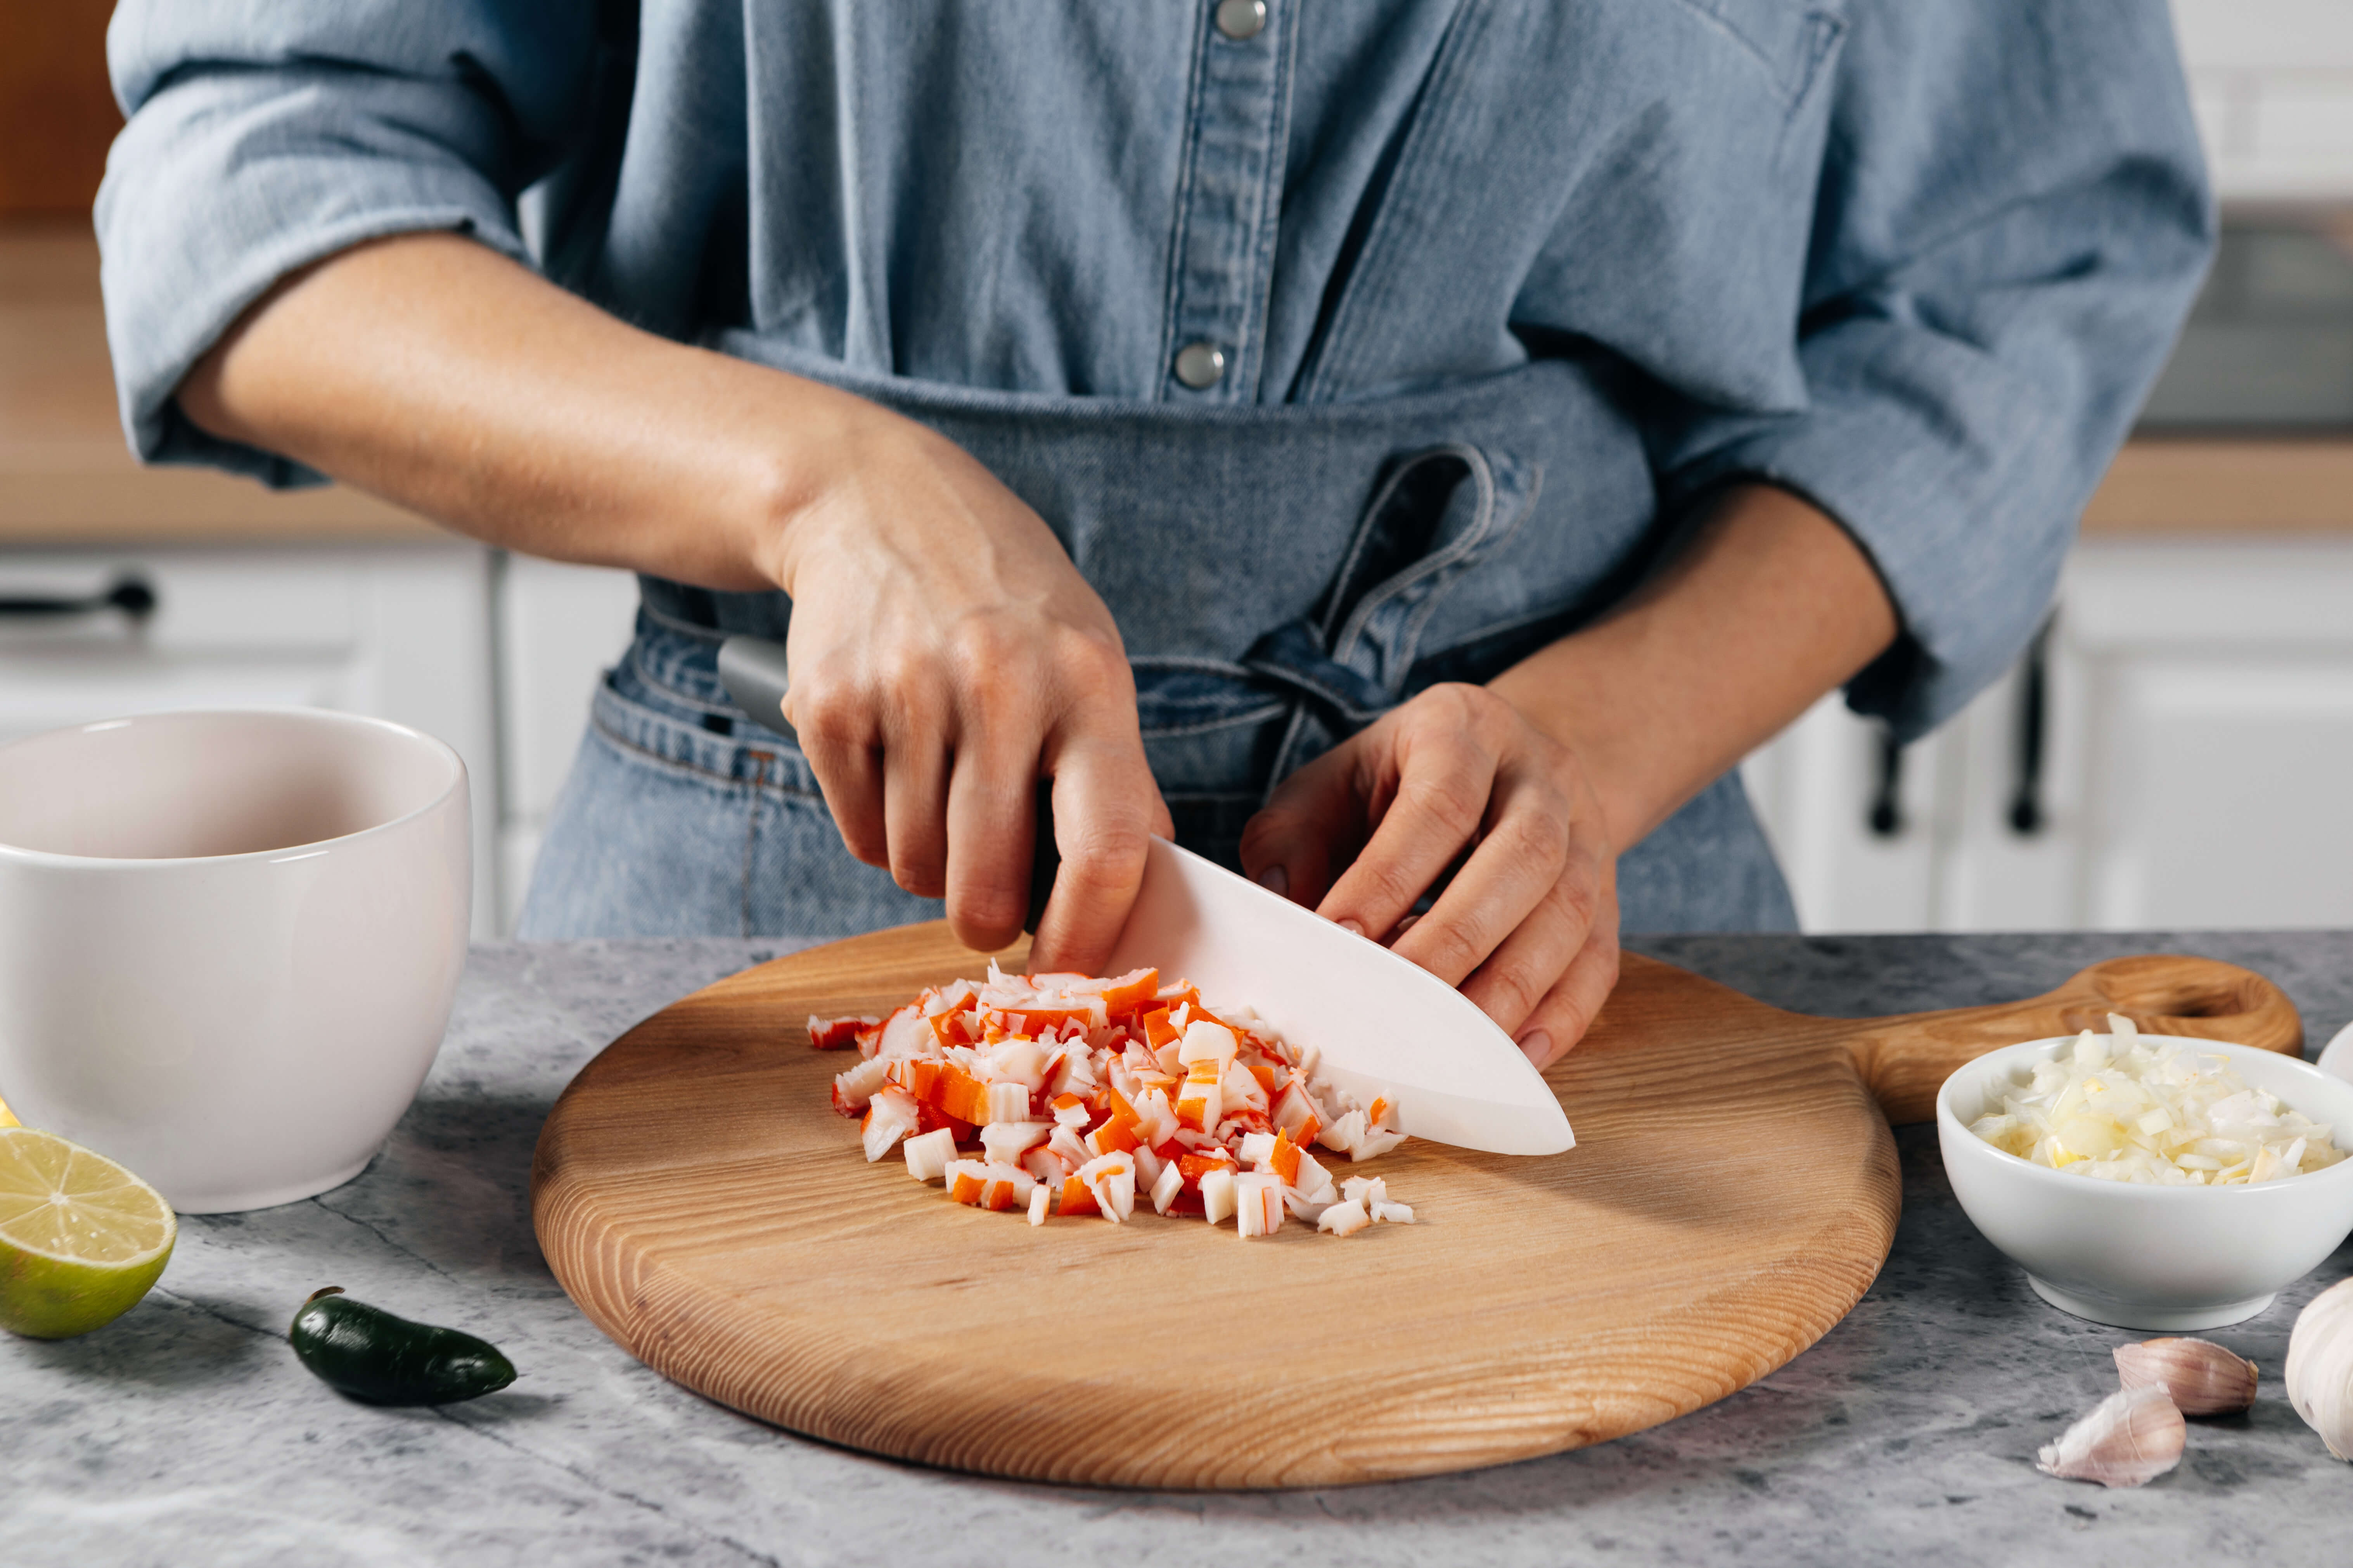
[[[1569,802],[1541,773],[1527,766],[1511,766],[1499,773],[1494,799],[1489,799],[1489,825],[1478,849],[1464,863],[1445,893],[1431,905],[1414,929],[1398,938],[1398,957],[1421,964],[1447,985],[1461,985],[1534,914],[1546,898],[1560,889],[1562,872],[1569,870],[1574,839],[1569,835]],[[1588,865],[1581,886],[1586,907],[1577,919],[1577,940],[1565,943],[1555,954],[1555,966],[1525,997],[1520,1016],[1558,978],[1560,966],[1584,943],[1584,926],[1591,924],[1598,870]],[[1513,1018],[1518,1023],[1518,1018]],[[1511,1027],[1506,1023],[1504,1027]]]

